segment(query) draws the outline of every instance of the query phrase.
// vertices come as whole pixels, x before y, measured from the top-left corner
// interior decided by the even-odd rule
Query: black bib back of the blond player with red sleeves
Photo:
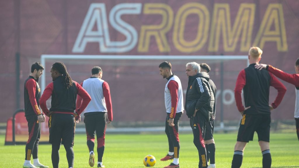
[[[270,114],[269,90],[271,77],[267,70],[254,68],[250,64],[245,71],[246,84],[243,88],[245,107],[251,108],[245,114]]]

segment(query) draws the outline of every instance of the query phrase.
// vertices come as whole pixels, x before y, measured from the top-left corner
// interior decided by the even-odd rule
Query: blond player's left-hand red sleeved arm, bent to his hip
[[[245,74],[245,70],[243,69],[242,71],[240,71],[237,77],[237,82],[235,87],[235,100],[239,112],[244,112],[245,110],[242,104],[242,95],[241,95],[242,89],[244,88],[245,84],[246,84],[246,74]]]

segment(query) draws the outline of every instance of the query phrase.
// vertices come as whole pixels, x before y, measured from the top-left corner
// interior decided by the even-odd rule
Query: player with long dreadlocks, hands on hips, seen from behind
[[[44,90],[39,100],[42,111],[49,119],[49,143],[52,144],[52,164],[58,168],[60,144],[64,145],[68,167],[74,166],[74,135],[75,117],[86,108],[91,98],[82,86],[73,81],[62,62],[55,62],[51,67],[53,82]],[[77,94],[83,99],[76,109]],[[51,98],[51,108],[48,110],[46,101]]]

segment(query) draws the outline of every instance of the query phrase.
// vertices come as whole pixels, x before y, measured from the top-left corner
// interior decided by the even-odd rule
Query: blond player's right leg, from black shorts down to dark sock
[[[259,138],[259,144],[263,155],[263,168],[270,168],[272,163],[271,153],[270,153],[270,115],[261,115],[260,124],[257,127],[257,136]]]

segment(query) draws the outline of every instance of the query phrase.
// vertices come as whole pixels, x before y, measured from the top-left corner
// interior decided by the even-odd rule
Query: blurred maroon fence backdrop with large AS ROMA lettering
[[[170,61],[185,91],[186,63],[205,62],[217,87],[215,125],[237,127],[234,87],[251,46],[263,50],[260,63],[295,73],[298,7],[296,0],[0,1],[0,128],[5,132],[7,120],[24,108],[24,81],[36,61],[45,66],[42,89],[52,81],[54,62],[65,63],[78,83],[91,76],[93,66],[102,67],[111,89],[111,129],[162,128],[167,81],[158,65]],[[272,130],[290,126],[295,132],[295,87],[282,83],[287,92],[272,111]],[[277,91],[270,92],[271,103]],[[185,114],[180,124],[188,127]]]

